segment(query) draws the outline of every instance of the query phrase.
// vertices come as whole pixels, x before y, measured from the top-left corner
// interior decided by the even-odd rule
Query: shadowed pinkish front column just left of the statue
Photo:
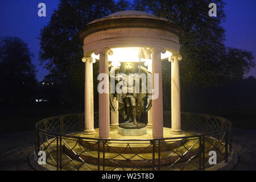
[[[108,55],[112,55],[111,49],[99,49],[94,52],[100,54],[98,84],[98,112],[99,112],[99,137],[109,138],[110,112],[109,112],[109,61]],[[103,74],[102,74],[103,73]],[[101,89],[101,91],[100,91]]]

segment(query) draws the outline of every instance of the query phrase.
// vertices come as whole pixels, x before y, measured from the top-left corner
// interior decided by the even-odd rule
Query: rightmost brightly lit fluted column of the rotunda
[[[171,56],[171,109],[172,109],[172,129],[171,134],[182,134],[180,123],[180,55]]]

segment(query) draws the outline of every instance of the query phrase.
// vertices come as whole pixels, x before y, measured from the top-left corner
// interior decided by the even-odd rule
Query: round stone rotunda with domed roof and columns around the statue
[[[183,30],[174,22],[142,11],[120,11],[105,18],[94,20],[81,31],[84,43],[85,62],[85,134],[94,134],[93,118],[93,66],[99,61],[99,73],[109,74],[109,61],[120,60],[133,54],[129,48],[146,47],[151,51],[151,59],[144,61],[148,69],[159,74],[159,97],[152,100],[148,111],[147,126],[152,127],[153,138],[163,138],[163,94],[162,94],[162,60],[171,63],[171,134],[182,134],[180,123],[180,81],[179,55],[180,40]],[[120,53],[123,54],[120,56]],[[127,60],[134,61],[134,60]],[[104,80],[109,85],[109,80]],[[154,88],[152,88],[154,89]],[[109,88],[106,88],[109,90]],[[167,100],[165,100],[168,102]],[[113,113],[110,124],[109,93],[99,94],[99,137],[110,137],[110,127],[118,126],[118,112]]]

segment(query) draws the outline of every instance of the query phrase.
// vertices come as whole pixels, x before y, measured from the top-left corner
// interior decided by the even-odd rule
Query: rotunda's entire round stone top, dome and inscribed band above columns
[[[184,31],[166,18],[143,11],[118,11],[94,20],[79,32],[84,55],[100,48],[162,47],[178,53]]]

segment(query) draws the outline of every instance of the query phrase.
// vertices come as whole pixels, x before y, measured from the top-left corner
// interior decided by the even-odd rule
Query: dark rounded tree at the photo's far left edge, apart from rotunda
[[[10,105],[29,102],[36,90],[32,53],[19,38],[0,38],[0,100]]]

